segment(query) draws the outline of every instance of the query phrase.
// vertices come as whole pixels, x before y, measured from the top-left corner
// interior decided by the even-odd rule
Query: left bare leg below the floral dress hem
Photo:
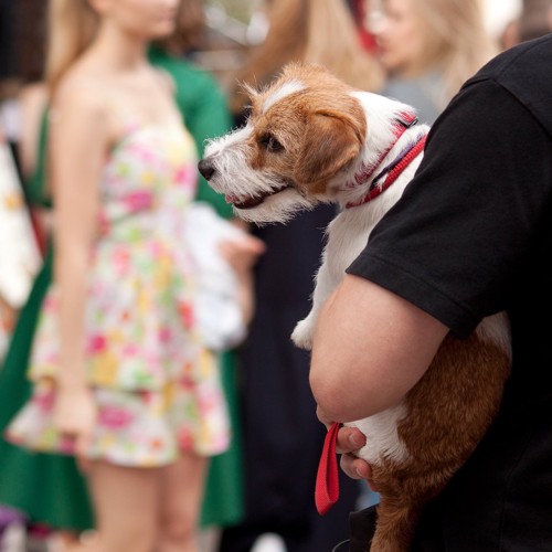
[[[159,485],[167,468],[129,468],[95,461],[87,471],[98,552],[151,552],[159,520]]]

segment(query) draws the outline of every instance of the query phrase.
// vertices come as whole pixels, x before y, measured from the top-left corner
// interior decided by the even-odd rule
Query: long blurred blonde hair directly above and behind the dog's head
[[[325,65],[351,86],[376,91],[383,84],[383,70],[360,40],[346,0],[272,0],[269,29],[265,41],[252,52],[236,75],[238,83],[268,84],[288,62]],[[231,102],[240,113],[245,95],[238,91]]]

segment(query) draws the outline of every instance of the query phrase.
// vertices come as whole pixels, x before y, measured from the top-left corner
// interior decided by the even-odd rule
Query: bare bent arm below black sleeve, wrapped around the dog
[[[346,276],[315,331],[310,385],[337,422],[397,404],[427,370],[448,329],[399,296]]]

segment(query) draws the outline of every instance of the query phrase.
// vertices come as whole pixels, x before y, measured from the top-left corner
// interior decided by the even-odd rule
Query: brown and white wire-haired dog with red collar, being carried
[[[411,181],[428,127],[416,124],[412,107],[351,89],[315,65],[289,64],[270,87],[248,93],[247,125],[211,141],[199,169],[238,216],[257,224],[286,222],[319,202],[341,208],[328,226],[312,309],[291,336],[310,349],[321,305]],[[359,456],[381,495],[372,552],[408,550],[422,508],[487,432],[509,372],[500,314],[469,339],[448,336],[401,404],[354,422],[367,435]]]

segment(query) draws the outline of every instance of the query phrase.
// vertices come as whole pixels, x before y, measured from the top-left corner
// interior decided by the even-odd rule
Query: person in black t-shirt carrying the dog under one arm
[[[535,316],[552,306],[551,60],[548,34],[464,84],[318,319],[310,385],[329,426],[396,404],[447,333],[467,338],[484,317],[509,315],[513,360],[498,417],[424,509],[412,552],[552,550],[552,353],[550,325]],[[342,427],[337,449],[350,477],[370,480],[354,456],[364,442]],[[375,516],[353,514],[336,551],[368,550]]]

